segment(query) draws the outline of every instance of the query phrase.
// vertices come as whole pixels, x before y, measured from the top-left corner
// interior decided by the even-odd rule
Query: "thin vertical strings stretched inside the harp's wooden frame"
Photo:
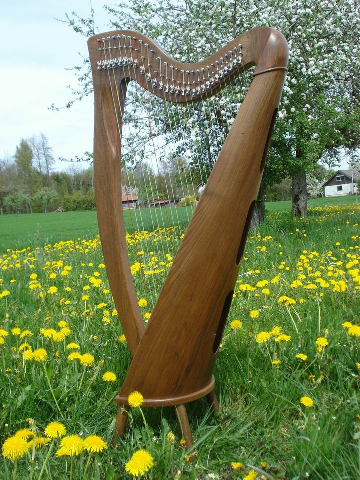
[[[190,194],[190,190],[192,189],[193,195],[196,196],[195,183],[192,175],[193,173],[196,172],[196,169],[198,169],[197,174],[201,179],[201,185],[204,185],[204,179],[206,179],[206,182],[207,182],[208,172],[212,169],[213,164],[216,161],[216,157],[218,156],[218,153],[222,147],[226,133],[229,130],[229,125],[232,124],[231,115],[233,115],[233,113],[237,113],[237,110],[238,110],[237,105],[235,107],[233,106],[233,102],[237,100],[239,103],[241,103],[241,97],[243,96],[245,88],[242,84],[241,76],[239,76],[239,82],[240,82],[240,87],[239,87],[237,83],[236,73],[234,75],[233,81],[230,79],[227,79],[226,75],[224,75],[225,76],[224,81],[219,82],[219,91],[215,95],[212,95],[210,89],[206,88],[206,82],[210,81],[211,67],[213,69],[213,72],[217,73],[219,71],[218,61],[216,62],[216,65],[212,64],[211,67],[208,66],[206,69],[202,68],[201,71],[196,70],[196,71],[190,72],[186,70],[185,72],[182,70],[181,73],[182,73],[183,83],[181,84],[181,82],[177,82],[178,84],[176,85],[173,78],[173,74],[171,79],[168,76],[167,63],[163,62],[163,65],[166,71],[165,79],[167,84],[169,84],[169,81],[171,81],[172,86],[174,88],[177,86],[177,87],[180,87],[181,89],[181,85],[183,89],[187,87],[190,90],[190,95],[186,95],[185,102],[180,103],[178,102],[177,95],[173,95],[173,98],[175,99],[175,101],[173,101],[173,98],[171,99],[170,91],[167,90],[166,92],[165,90],[164,91],[165,100],[157,98],[157,95],[155,95],[154,86],[158,86],[158,85],[154,85],[153,79],[156,80],[157,82],[158,76],[159,76],[160,81],[162,81],[163,83],[164,74],[162,73],[161,57],[156,58],[160,60],[160,72],[157,72],[155,70],[152,72],[151,65],[150,65],[149,48],[147,45],[146,46],[147,63],[148,63],[147,67],[149,72],[151,73],[149,78],[145,73],[147,89],[146,88],[143,89],[136,82],[133,88],[133,91],[131,91],[130,85],[133,85],[134,82],[130,82],[128,84],[128,94],[126,96],[126,93],[123,88],[123,84],[121,82],[120,68],[122,67],[122,71],[123,71],[122,78],[129,76],[125,72],[125,65],[127,67],[129,74],[131,73],[130,72],[130,65],[131,65],[132,74],[130,74],[130,76],[134,78],[135,81],[137,79],[136,78],[137,74],[135,69],[134,58],[132,55],[133,50],[131,48],[131,37],[129,37],[130,46],[126,45],[126,36],[122,35],[122,37],[124,38],[124,45],[123,46],[121,45],[121,37],[118,35],[117,37],[113,37],[114,39],[113,47],[111,47],[111,44],[110,44],[111,40],[109,37],[109,48],[108,48],[108,54],[109,54],[110,60],[112,60],[112,52],[114,53],[114,58],[117,58],[117,55],[119,55],[119,58],[121,60],[127,59],[129,57],[131,57],[131,60],[132,60],[131,62],[120,61],[118,63],[119,67],[117,70],[118,70],[118,81],[120,83],[120,90],[121,90],[120,93],[117,87],[117,81],[116,81],[114,69],[112,70],[113,70],[115,87],[113,87],[112,85],[109,72],[108,72],[108,75],[109,75],[111,95],[112,95],[112,100],[114,102],[115,112],[117,112],[117,108],[115,105],[115,99],[117,98],[118,110],[120,112],[121,119],[123,122],[122,132],[119,131],[119,134],[120,135],[122,134],[122,148],[126,153],[126,155],[123,156],[124,161],[123,161],[123,165],[121,166],[122,171],[125,171],[125,174],[126,174],[126,176],[123,175],[125,193],[127,198],[129,194],[132,193],[131,190],[128,191],[128,188],[130,189],[131,187],[130,177],[132,177],[133,186],[136,187],[136,181],[135,181],[135,170],[136,170],[136,176],[139,183],[139,190],[141,191],[142,199],[143,199],[143,195],[145,194],[147,205],[149,206],[149,208],[146,209],[144,208],[145,207],[144,201],[142,202],[142,205],[140,204],[140,201],[139,201],[138,211],[132,213],[131,209],[129,209],[129,217],[130,217],[130,222],[132,226],[133,242],[135,244],[137,259],[141,265],[141,268],[140,268],[141,281],[142,281],[143,288],[145,289],[146,299],[150,299],[150,302],[151,302],[150,309],[152,309],[155,304],[154,296],[156,294],[156,291],[160,290],[161,284],[164,281],[164,272],[161,271],[160,281],[158,281],[157,278],[155,281],[154,275],[152,274],[146,275],[144,274],[143,270],[145,267],[150,266],[150,263],[154,258],[152,250],[156,250],[158,261],[161,260],[159,245],[158,245],[158,241],[153,241],[151,243],[151,237],[150,239],[143,239],[141,234],[136,234],[135,232],[140,231],[141,229],[145,230],[146,224],[147,224],[147,230],[151,231],[152,229],[151,227],[152,225],[155,225],[155,221],[154,221],[153,211],[152,211],[153,208],[151,208],[150,196],[152,198],[152,204],[155,205],[156,204],[155,196],[157,195],[157,199],[160,199],[160,195],[159,195],[159,189],[156,183],[156,179],[153,177],[153,175],[150,174],[149,168],[143,167],[143,163],[146,164],[146,157],[150,155],[152,157],[152,161],[150,159],[150,163],[153,165],[153,162],[155,162],[158,178],[161,178],[159,164],[161,164],[161,162],[166,162],[166,157],[171,158],[171,161],[176,163],[177,169],[174,168],[173,172],[168,172],[168,178],[167,178],[165,168],[162,168],[163,181],[165,184],[166,191],[164,191],[163,185],[161,186],[161,184],[160,184],[160,191],[167,197],[168,200],[171,200],[171,195],[172,195],[172,199],[175,199],[175,190],[176,192],[178,191],[177,189],[178,186],[180,186],[180,190],[184,198],[186,196],[185,190],[187,191],[187,194]],[[116,38],[119,39],[118,47],[116,47]],[[141,40],[139,40],[139,42],[142,43]],[[106,42],[104,46],[106,47]],[[123,50],[124,57],[122,57],[122,53],[121,53],[122,48],[124,49]],[[142,48],[143,48],[143,45],[141,44],[141,49]],[[107,49],[104,48],[105,60],[107,59],[106,50]],[[237,50],[237,49],[234,49],[234,50]],[[234,54],[234,57],[237,56],[236,51],[235,53],[234,51],[230,51],[229,53],[230,53],[230,60],[232,59],[233,54]],[[154,52],[152,52],[152,55],[154,57]],[[225,58],[227,59],[228,56],[229,55],[225,55]],[[145,57],[143,56],[143,54],[141,54],[142,65],[145,68],[144,58]],[[239,55],[239,58],[240,58],[240,55]],[[225,60],[223,58],[221,58],[220,60],[222,61],[221,63],[221,67],[222,67],[223,62]],[[238,62],[234,67],[234,69],[237,68],[239,70],[241,67],[242,67],[242,62]],[[207,78],[206,78],[206,71],[207,71]],[[184,81],[185,74],[186,74],[187,82]],[[190,81],[191,75],[192,75],[192,81]],[[245,76],[245,81],[248,86],[246,76]],[[151,83],[151,87],[148,85],[149,82]],[[204,88],[201,88],[202,85],[204,86]],[[197,92],[199,93],[199,95],[197,96],[195,95],[196,98],[194,99],[192,98],[192,95],[191,95],[191,90],[193,87],[194,88],[198,87]],[[116,95],[114,94],[115,91],[116,91]],[[168,100],[166,98],[166,94],[168,94],[169,96]],[[120,95],[124,104],[123,111],[121,108]],[[172,100],[172,101],[169,101],[169,100]],[[189,103],[191,103],[191,105],[189,105]],[[230,121],[229,121],[229,118],[230,118]],[[145,119],[147,121],[147,131],[149,132],[149,134],[147,135],[147,137],[146,135],[141,134],[140,141],[142,144],[140,146],[142,146],[142,150],[139,153],[138,151],[136,151],[135,147],[131,145],[131,143],[132,143],[132,140],[135,138],[136,128],[137,130],[141,128],[141,125],[144,124]],[[116,121],[119,128],[119,119],[118,119],[117,113],[116,113]],[[163,125],[161,134],[159,133],[160,125]],[[191,134],[192,132],[193,134]],[[170,141],[174,142],[175,145],[177,144],[177,146],[175,146],[175,150],[171,151],[168,148],[168,144],[170,143]],[[167,150],[170,150],[169,153],[167,153]],[[181,151],[181,155],[177,155],[178,150]],[[200,165],[200,155],[203,162],[203,166]],[[126,161],[127,156],[132,160],[133,162],[132,166],[128,165],[128,162]],[[139,156],[140,158],[138,159]],[[183,178],[181,177],[179,157],[180,157],[180,162],[182,161],[182,169],[184,172]],[[188,165],[185,164],[186,157],[189,159]],[[141,165],[140,172],[138,168],[139,164]],[[145,171],[147,173],[147,178],[145,178]],[[172,173],[173,173],[174,183],[172,179]],[[176,174],[177,174],[177,178],[176,178]],[[142,176],[142,179],[141,179],[141,176]],[[188,181],[188,176],[190,177],[190,181]],[[143,189],[141,188],[141,181],[143,182],[144,186],[146,185],[149,186],[150,196],[149,196],[148,188],[143,188]],[[174,185],[175,185],[175,188],[174,188]],[[173,209],[170,209],[169,213],[171,216],[171,222],[168,216],[167,208],[165,209],[166,221],[163,215],[163,208],[160,208],[159,216],[158,216],[157,210],[158,208],[154,209],[154,216],[156,217],[156,224],[158,226],[160,226],[159,216],[161,217],[161,222],[163,227],[167,225],[168,227],[171,228],[173,227],[173,225],[176,225],[176,222],[177,222],[176,226],[180,226],[179,213],[180,215],[182,214],[183,216],[184,214],[183,210],[185,210],[185,214],[187,216],[187,222],[189,221],[187,206],[185,206],[184,209],[175,208],[174,211]],[[136,229],[135,229],[135,226],[136,226]],[[174,231],[176,231],[177,233],[177,241],[179,242],[181,240],[180,228],[174,228]],[[178,243],[176,245],[174,244],[172,235],[169,235],[169,238],[172,240],[172,244],[170,245],[169,241],[166,241],[167,253],[165,251],[166,248],[164,248],[164,245],[163,245],[164,241],[160,241],[161,248],[162,248],[161,253],[163,255],[163,259],[167,255],[169,255],[169,257],[173,257],[175,250],[177,250]],[[139,253],[139,247],[137,243],[139,243],[141,252],[144,250],[146,251],[146,257],[147,257],[146,261],[144,261],[143,255]],[[171,246],[171,252],[169,248],[170,246]],[[159,267],[158,262],[157,262],[157,266]],[[163,270],[161,268],[158,268],[158,269]],[[151,276],[152,281],[150,281],[150,279],[148,278],[149,276]]]

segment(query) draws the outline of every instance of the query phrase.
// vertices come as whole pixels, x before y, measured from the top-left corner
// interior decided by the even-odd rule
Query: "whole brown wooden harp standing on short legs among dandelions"
[[[182,434],[187,447],[191,447],[186,403],[207,396],[213,408],[218,408],[213,368],[287,71],[287,42],[272,28],[255,28],[205,60],[189,64],[180,63],[156,42],[133,31],[95,35],[88,46],[95,98],[98,224],[114,303],[132,354],[115,398],[119,409],[113,442],[124,433],[128,395],[139,391],[145,407],[176,407]],[[249,82],[246,70],[251,67],[252,81],[242,98]],[[235,116],[229,120],[227,112],[234,110]],[[170,155],[171,141],[176,151],[179,145],[185,145],[182,156],[190,158],[183,162],[182,183],[168,177],[163,187],[165,200],[160,200],[160,187],[151,186],[144,175],[144,170],[151,170],[148,163],[139,173],[138,156],[150,158],[155,169],[155,163]],[[196,161],[191,161],[191,155]],[[141,174],[142,186],[147,181],[147,187],[141,190],[147,192],[141,193],[147,217],[154,220],[160,210],[161,215],[165,210],[166,218],[175,215],[168,227],[164,219],[163,231],[176,225],[180,211],[189,210],[188,206],[154,208],[166,199],[175,202],[174,184],[181,184],[181,195],[183,192],[186,196],[193,188],[191,180],[206,183],[186,233],[173,228],[180,232],[178,243],[182,241],[163,281],[154,278],[155,270],[149,270],[148,265],[158,266],[161,241],[170,248],[169,253],[164,250],[167,259],[172,258],[177,244],[172,247],[171,239],[157,238],[157,250],[153,247],[155,240],[149,246],[151,234],[138,210],[126,211],[134,230],[130,241],[125,231],[123,190],[125,200],[136,196],[139,200]],[[159,222],[154,224],[158,226]],[[136,230],[147,230],[147,234],[141,238]],[[136,286],[128,243],[139,255],[135,262],[139,269]],[[156,269],[160,273],[162,270],[166,268]],[[136,294],[141,285],[158,290],[156,301],[146,301],[153,308],[146,327]]]

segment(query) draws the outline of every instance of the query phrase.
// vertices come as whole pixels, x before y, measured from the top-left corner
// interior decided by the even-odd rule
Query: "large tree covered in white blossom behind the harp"
[[[292,177],[295,215],[306,215],[306,172],[319,160],[332,166],[341,147],[359,146],[358,0],[133,0],[105,8],[111,27],[141,31],[184,62],[208,56],[253,27],[272,26],[285,35],[289,73],[264,183]],[[88,19],[67,16],[67,22],[85,36],[95,33],[93,11]],[[77,97],[91,91],[89,78],[88,69],[79,74]]]

